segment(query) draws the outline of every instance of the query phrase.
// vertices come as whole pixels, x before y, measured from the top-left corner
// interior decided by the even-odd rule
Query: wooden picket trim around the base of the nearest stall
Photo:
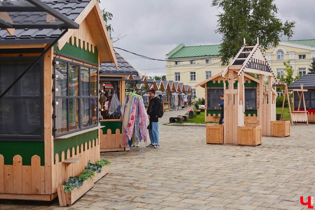
[[[95,145],[96,143],[96,145]],[[84,149],[84,150],[83,150]],[[70,156],[71,154],[71,156]],[[79,161],[71,164],[62,163],[69,158],[80,158]],[[22,165],[22,157],[15,155],[13,165],[4,165],[4,158],[0,155],[0,197],[1,194],[23,194],[34,195],[30,200],[37,200],[36,195],[51,195],[57,192],[57,186],[66,184],[66,179],[71,176],[79,175],[89,160],[95,163],[100,160],[100,144],[98,139],[88,143],[72,147],[71,152],[66,150],[66,154],[61,152],[61,161],[59,155],[54,156],[54,165],[52,166],[52,190],[45,192],[45,166],[41,166],[41,159],[34,155],[31,157],[31,165]],[[24,197],[25,198],[25,197]],[[15,199],[19,199],[15,197]],[[41,199],[38,199],[41,200]]]

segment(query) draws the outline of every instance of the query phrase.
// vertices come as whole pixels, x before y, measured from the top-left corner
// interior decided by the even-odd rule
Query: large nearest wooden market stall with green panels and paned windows
[[[99,5],[43,4],[79,29],[0,30],[1,93],[39,59],[0,99],[0,199],[51,201],[66,179],[100,160],[99,66],[117,61]]]

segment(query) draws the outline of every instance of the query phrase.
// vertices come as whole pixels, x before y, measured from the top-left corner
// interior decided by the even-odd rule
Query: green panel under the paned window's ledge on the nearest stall
[[[69,149],[70,150],[70,156],[71,156],[72,147],[76,148],[77,145],[80,147],[80,145],[83,144],[83,148],[84,148],[85,142],[87,142],[89,145],[89,141],[91,141],[91,144],[92,144],[92,140],[93,139],[95,140],[97,138],[98,138],[98,130],[96,129],[94,131],[82,133],[82,134],[72,136],[72,137],[67,138],[67,139],[59,139],[57,141],[54,141],[54,155],[56,153],[58,153],[59,161],[60,161],[62,151],[65,152],[65,156],[66,156],[66,150]]]

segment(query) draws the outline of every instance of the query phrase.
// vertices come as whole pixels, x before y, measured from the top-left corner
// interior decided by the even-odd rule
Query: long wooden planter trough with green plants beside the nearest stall
[[[75,188],[70,192],[65,192],[63,185],[57,187],[58,191],[58,199],[60,207],[64,207],[66,205],[71,206],[77,199],[83,196],[87,191],[89,191],[93,186],[94,183],[102,178],[106,173],[109,172],[109,166],[103,166],[101,173],[95,172],[95,177],[92,179],[85,180],[83,185],[80,188]]]

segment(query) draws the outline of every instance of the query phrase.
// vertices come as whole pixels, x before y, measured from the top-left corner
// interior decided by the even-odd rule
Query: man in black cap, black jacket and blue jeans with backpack
[[[152,99],[149,102],[148,110],[146,111],[150,120],[150,124],[148,128],[149,128],[149,137],[150,137],[151,144],[146,145],[146,147],[159,148],[160,145],[159,145],[159,138],[158,138],[157,111],[159,108],[159,103],[161,102],[160,102],[159,97],[155,95],[154,89],[149,90],[148,93],[152,97]]]

